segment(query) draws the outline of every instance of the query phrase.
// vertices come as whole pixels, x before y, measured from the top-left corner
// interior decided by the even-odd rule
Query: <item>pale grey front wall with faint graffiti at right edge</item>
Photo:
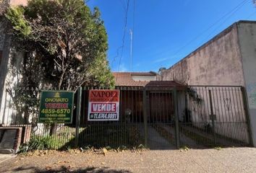
[[[252,140],[256,146],[256,22],[239,23],[238,33],[249,103]]]

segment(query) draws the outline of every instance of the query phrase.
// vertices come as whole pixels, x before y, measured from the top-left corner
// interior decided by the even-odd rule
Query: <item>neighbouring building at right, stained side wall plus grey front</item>
[[[244,86],[256,146],[256,22],[239,21],[182,61],[162,68],[158,80],[187,85]]]

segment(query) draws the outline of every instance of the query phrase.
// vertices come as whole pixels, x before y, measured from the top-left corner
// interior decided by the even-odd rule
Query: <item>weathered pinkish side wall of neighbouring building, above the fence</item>
[[[244,86],[236,25],[162,71],[158,80],[174,80],[189,85]]]

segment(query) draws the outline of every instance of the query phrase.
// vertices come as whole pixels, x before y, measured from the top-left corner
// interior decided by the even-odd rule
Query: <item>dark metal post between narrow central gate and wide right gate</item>
[[[175,115],[175,136],[176,136],[176,147],[179,149],[180,141],[179,141],[179,114],[178,114],[178,100],[177,100],[177,89],[174,87],[173,89],[173,101],[174,101],[174,115]]]

